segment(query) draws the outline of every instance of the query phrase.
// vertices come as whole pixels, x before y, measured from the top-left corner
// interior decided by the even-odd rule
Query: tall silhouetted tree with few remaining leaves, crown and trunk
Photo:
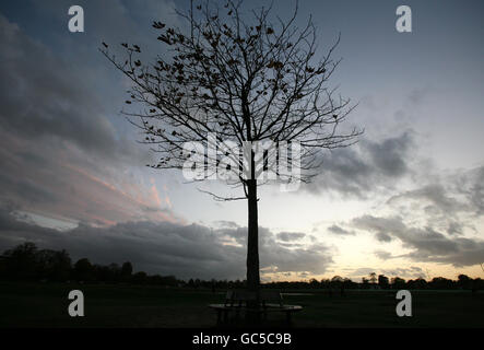
[[[217,200],[248,200],[247,284],[253,291],[260,282],[258,185],[267,183],[260,175],[270,166],[267,154],[256,159],[257,152],[251,150],[244,161],[239,150],[255,141],[275,145],[300,142],[300,163],[288,158],[300,173],[276,175],[287,183],[308,182],[321,165],[320,150],[350,145],[361,133],[355,128],[337,131],[354,108],[350,100],[335,97],[335,90],[327,85],[339,65],[331,55],[340,39],[316,59],[311,19],[298,28],[296,4],[288,21],[275,18],[273,25],[270,12],[271,8],[261,8],[246,16],[240,2],[228,1],[223,8],[209,1],[191,2],[190,10],[178,12],[188,23],[187,31],[153,23],[160,31],[158,40],[170,54],[143,62],[135,44],[121,44],[126,60],[118,60],[105,43],[101,48],[132,82],[127,103],[145,107],[126,115],[145,133],[143,142],[152,144],[161,156],[151,166],[184,168],[193,156],[184,152],[185,144],[222,144],[222,152],[215,155],[200,151],[204,166],[196,180],[213,176],[210,164],[222,163],[224,171],[235,173],[226,183],[244,189],[241,196],[210,194]],[[215,133],[216,139],[210,139],[209,133]],[[224,156],[235,166],[225,166]],[[275,159],[280,158],[278,153]],[[245,166],[248,176],[238,172]]]

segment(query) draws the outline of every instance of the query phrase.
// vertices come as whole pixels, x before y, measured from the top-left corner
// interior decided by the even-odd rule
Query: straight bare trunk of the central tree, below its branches
[[[257,179],[247,182],[249,232],[247,238],[247,288],[259,291],[259,220],[257,217]]]

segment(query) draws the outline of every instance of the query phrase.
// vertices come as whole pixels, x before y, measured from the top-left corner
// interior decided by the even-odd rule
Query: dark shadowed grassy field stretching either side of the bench
[[[84,293],[84,317],[68,315],[74,289]],[[297,328],[484,327],[482,291],[412,291],[413,317],[397,316],[394,291],[306,292],[310,295],[284,295],[286,304],[305,306],[294,315]],[[223,298],[222,291],[0,282],[0,327],[214,327],[216,316],[206,304]],[[283,325],[284,315],[270,318],[271,325]]]

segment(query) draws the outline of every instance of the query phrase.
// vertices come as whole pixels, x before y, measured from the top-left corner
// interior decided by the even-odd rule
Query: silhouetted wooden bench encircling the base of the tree
[[[235,318],[238,319],[240,312],[256,313],[258,316],[262,315],[267,319],[269,313],[280,312],[286,314],[287,325],[292,324],[292,314],[303,310],[299,305],[284,305],[282,294],[273,290],[259,291],[259,307],[253,307],[253,302],[257,301],[257,293],[244,290],[229,290],[225,294],[225,302],[223,304],[210,304],[209,307],[217,313],[216,323],[227,324],[228,314],[235,313]]]

